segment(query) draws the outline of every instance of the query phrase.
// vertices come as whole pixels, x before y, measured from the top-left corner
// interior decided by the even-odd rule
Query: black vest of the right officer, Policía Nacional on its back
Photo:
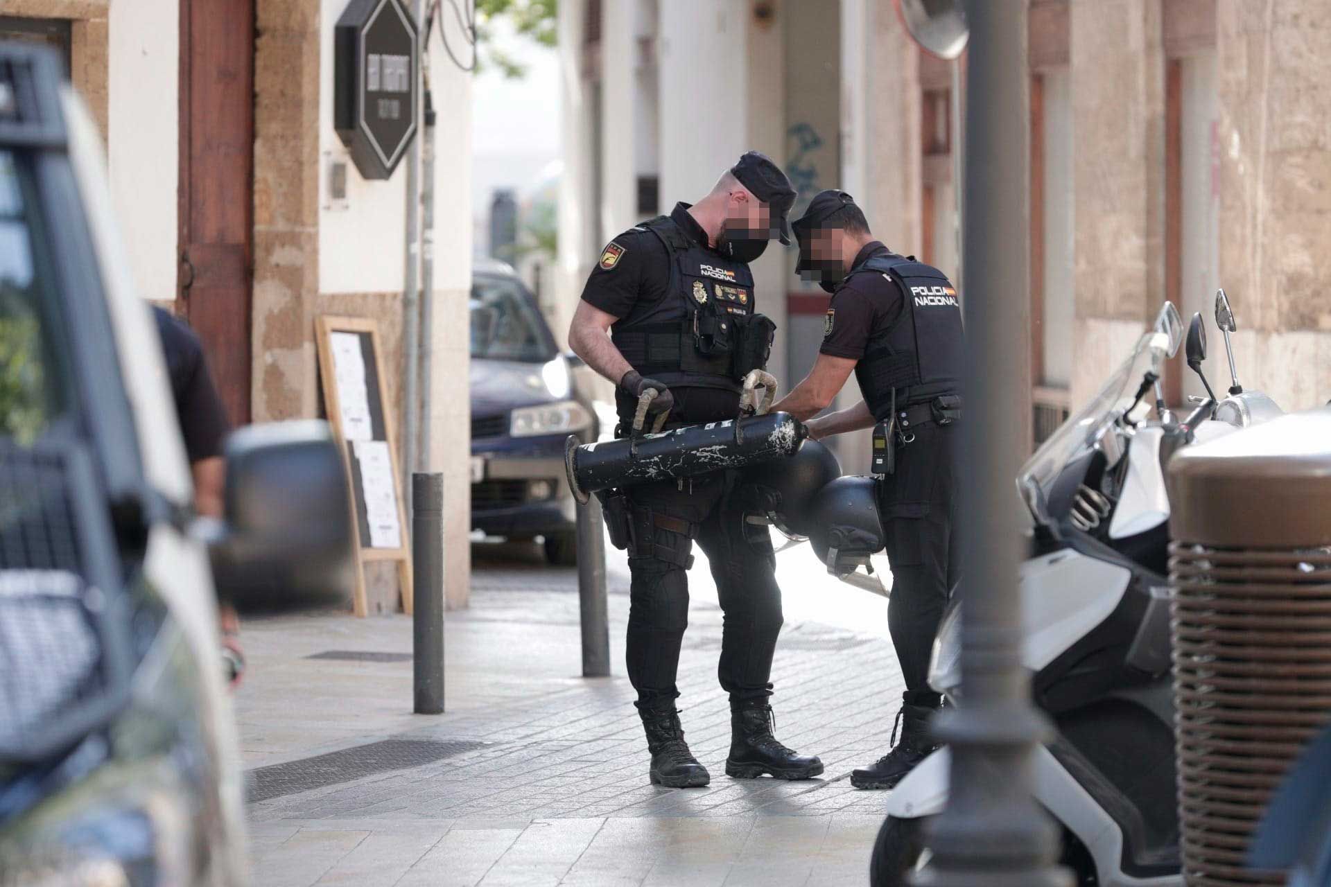
[[[869,342],[855,367],[873,418],[888,416],[893,391],[898,407],[961,394],[965,367],[961,303],[942,271],[913,257],[876,255],[851,274],[881,274],[896,283],[905,299],[886,335]]]

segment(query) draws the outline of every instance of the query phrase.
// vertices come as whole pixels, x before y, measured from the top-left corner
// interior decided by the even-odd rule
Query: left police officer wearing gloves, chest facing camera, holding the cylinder
[[[620,436],[634,434],[644,400],[640,424],[650,427],[736,418],[741,383],[765,366],[775,331],[755,313],[748,263],[773,237],[789,243],[785,217],[793,201],[776,164],[749,152],[697,203],[676,203],[669,215],[606,245],[568,344],[616,383]],[[602,501],[611,543],[630,555],[627,665],[652,755],[651,781],[684,787],[711,779],[684,742],[675,709],[695,540],[725,616],[717,669],[731,697],[725,773],[785,779],[823,773],[819,758],[799,755],[772,735],[768,697],[781,592],[767,528],[744,520],[736,472],[634,485]]]

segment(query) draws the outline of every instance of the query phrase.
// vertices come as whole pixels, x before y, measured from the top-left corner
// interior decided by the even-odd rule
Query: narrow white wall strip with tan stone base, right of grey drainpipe
[[[451,16],[439,16],[449,43],[463,45]],[[434,158],[434,311],[430,336],[433,398],[429,471],[443,472],[443,593],[449,609],[467,605],[471,592],[471,74],[459,69],[438,36],[430,41],[430,84],[438,112]],[[426,247],[429,249],[429,246]],[[401,262],[398,263],[401,265]],[[410,481],[409,481],[410,483]]]

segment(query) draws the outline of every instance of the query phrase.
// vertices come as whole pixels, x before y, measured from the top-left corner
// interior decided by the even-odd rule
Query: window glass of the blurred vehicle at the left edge
[[[0,438],[31,445],[61,407],[24,199],[28,173],[0,150]]]

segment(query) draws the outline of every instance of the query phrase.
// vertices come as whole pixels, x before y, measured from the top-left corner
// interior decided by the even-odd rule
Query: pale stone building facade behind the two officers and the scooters
[[[1163,299],[1211,323],[1219,286],[1238,315],[1244,384],[1286,410],[1326,403],[1331,4],[1024,7],[1032,199],[1014,222],[1030,227],[1032,291],[990,294],[958,267],[956,65],[914,48],[892,0],[560,3],[559,309],[575,305],[606,239],[695,199],[757,148],[784,162],[801,201],[808,189],[855,194],[889,246],[958,275],[964,294],[1026,299],[1032,366],[1017,383],[1032,391],[1036,439],[1095,391]],[[705,33],[687,37],[683,21]],[[635,205],[644,180],[659,203]],[[755,265],[787,387],[811,366],[825,306],[793,261],[769,249]],[[1213,384],[1227,380],[1217,356]],[[1177,402],[1197,390],[1178,364],[1167,380]],[[852,382],[843,400],[855,398]],[[841,447],[845,469],[864,469],[862,442]]]

